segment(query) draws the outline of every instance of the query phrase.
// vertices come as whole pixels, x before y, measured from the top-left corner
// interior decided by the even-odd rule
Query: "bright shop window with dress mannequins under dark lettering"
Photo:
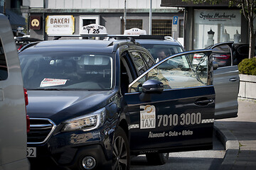
[[[201,49],[218,42],[241,41],[240,10],[195,10],[193,48]]]

